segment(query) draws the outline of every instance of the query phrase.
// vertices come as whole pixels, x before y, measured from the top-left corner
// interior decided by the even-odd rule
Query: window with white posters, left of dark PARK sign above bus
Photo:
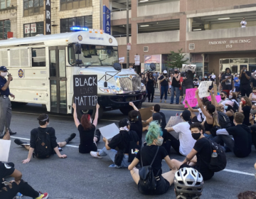
[[[43,21],[23,24],[23,37],[32,37],[43,34]]]

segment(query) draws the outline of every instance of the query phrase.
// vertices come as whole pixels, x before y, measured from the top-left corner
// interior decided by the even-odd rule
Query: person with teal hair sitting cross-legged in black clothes
[[[177,168],[171,162],[169,155],[161,144],[163,143],[161,137],[161,128],[158,122],[151,122],[149,124],[149,131],[146,133],[146,146],[144,146],[134,158],[134,161],[129,165],[128,169],[131,172],[134,182],[137,183],[139,192],[145,195],[160,195],[169,190],[170,185],[174,183],[174,175]],[[162,160],[165,160],[171,171],[162,173]],[[154,190],[145,191],[142,184],[139,183],[139,169],[135,168],[141,162],[142,166],[151,165],[154,177],[156,178],[156,188]]]

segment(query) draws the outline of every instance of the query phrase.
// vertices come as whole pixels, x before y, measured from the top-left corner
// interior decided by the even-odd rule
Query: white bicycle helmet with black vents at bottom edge
[[[177,198],[186,199],[184,195],[195,195],[188,198],[199,198],[203,191],[203,176],[195,168],[181,168],[175,173],[174,188]]]

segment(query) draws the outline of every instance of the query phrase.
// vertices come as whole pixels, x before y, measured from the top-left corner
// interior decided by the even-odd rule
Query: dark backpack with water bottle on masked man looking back
[[[216,153],[218,154],[218,156],[216,158],[211,157],[210,158],[210,163],[208,164],[208,168],[210,169],[210,171],[213,172],[218,172],[218,171],[222,171],[223,169],[225,169],[226,165],[227,165],[227,159],[225,156],[225,151],[223,151],[222,147],[215,143],[215,141],[211,141],[210,139],[208,139],[209,144],[210,144],[210,150],[216,150]]]

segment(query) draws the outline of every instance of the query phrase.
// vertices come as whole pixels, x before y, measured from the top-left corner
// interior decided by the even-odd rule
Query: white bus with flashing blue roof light
[[[146,88],[133,70],[114,70],[117,41],[97,30],[0,41],[0,65],[9,69],[14,102],[46,104],[48,112],[73,112],[73,75],[97,75],[99,116],[120,109],[127,114],[134,102],[146,99]],[[94,114],[95,110],[78,112]]]

